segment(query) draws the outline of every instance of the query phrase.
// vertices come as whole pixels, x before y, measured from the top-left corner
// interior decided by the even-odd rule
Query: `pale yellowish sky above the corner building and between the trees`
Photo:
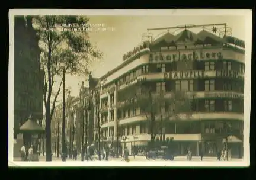
[[[108,71],[120,65],[123,62],[123,55],[133,50],[142,40],[142,34],[147,32],[148,28],[175,27],[178,25],[193,24],[220,24],[226,23],[232,28],[233,36],[245,40],[245,17],[244,16],[87,16],[90,24],[104,24],[105,28],[111,31],[94,31],[89,32],[90,41],[98,50],[103,52],[103,58],[92,63],[89,70],[92,76],[100,78]],[[209,27],[212,28],[212,27]],[[198,33],[201,28],[190,28],[190,31]],[[166,33],[167,30],[152,31],[153,36],[159,37],[159,34]],[[172,31],[169,31],[172,33]],[[180,31],[177,31],[179,33]],[[219,33],[217,33],[218,35]],[[56,84],[53,91],[57,91],[60,77],[56,78]],[[85,77],[66,75],[66,88],[71,90],[72,96],[79,95],[81,82],[85,86],[88,82]],[[61,99],[62,92],[59,98]]]

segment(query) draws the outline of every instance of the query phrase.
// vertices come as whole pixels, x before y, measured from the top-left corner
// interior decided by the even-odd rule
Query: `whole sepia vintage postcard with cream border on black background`
[[[11,9],[9,166],[249,166],[251,32],[245,9]]]

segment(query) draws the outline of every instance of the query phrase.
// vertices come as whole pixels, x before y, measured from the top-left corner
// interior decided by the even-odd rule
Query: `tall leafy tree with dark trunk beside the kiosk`
[[[37,15],[33,17],[33,20],[40,39],[39,46],[43,53],[41,66],[46,75],[43,88],[46,115],[46,161],[51,161],[50,121],[63,82],[62,77],[56,95],[52,96],[55,78],[57,75],[62,75],[62,72],[84,74],[91,60],[100,58],[101,53],[91,45],[85,31],[55,31],[51,29],[61,23],[78,23],[86,27],[88,19],[83,16]]]

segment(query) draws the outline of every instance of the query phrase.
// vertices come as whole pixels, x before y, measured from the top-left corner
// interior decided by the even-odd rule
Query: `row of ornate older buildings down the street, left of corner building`
[[[89,86],[95,88],[98,80],[89,76]],[[77,147],[78,153],[81,153],[82,146],[91,145],[94,142],[94,99],[96,91],[90,91],[82,82],[78,97],[68,95],[66,99],[66,128],[65,136],[68,146],[68,153],[72,152],[74,146]],[[91,97],[91,98],[89,98]],[[52,150],[57,152],[59,142],[59,152],[62,148],[62,121],[63,121],[62,102],[56,105],[52,119]],[[85,140],[85,132],[87,131],[87,141]],[[59,134],[59,135],[58,135]],[[58,140],[59,139],[59,140]]]

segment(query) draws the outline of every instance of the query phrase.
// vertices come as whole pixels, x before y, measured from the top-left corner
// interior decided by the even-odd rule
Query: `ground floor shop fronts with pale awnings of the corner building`
[[[136,140],[126,137],[126,140],[121,142],[121,149],[127,147],[131,155],[143,155],[147,151],[150,135],[143,134],[136,137]],[[228,142],[226,142],[222,137],[208,137],[204,139],[204,136],[202,137],[201,134],[165,134],[165,137],[164,142],[160,142],[158,138],[156,138],[155,146],[171,146],[172,153],[177,156],[187,155],[188,150],[192,152],[193,156],[201,156],[201,153],[203,153],[203,156],[217,156],[217,153],[220,153],[228,147],[229,158],[243,157],[241,140],[228,140]]]

